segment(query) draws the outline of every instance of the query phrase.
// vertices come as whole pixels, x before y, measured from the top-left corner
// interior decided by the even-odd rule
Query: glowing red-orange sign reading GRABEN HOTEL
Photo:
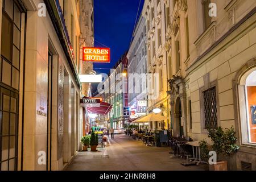
[[[83,47],[83,61],[93,63],[110,63],[110,48]]]

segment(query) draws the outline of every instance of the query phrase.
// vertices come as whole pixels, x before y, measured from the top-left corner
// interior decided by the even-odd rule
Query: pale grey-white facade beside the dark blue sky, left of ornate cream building
[[[146,115],[147,112],[147,48],[146,22],[138,20],[133,42],[127,53],[128,59],[128,105],[130,119]]]

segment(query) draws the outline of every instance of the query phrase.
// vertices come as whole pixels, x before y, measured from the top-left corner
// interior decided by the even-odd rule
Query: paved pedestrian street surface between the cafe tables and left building
[[[169,154],[169,147],[143,145],[127,135],[115,135],[105,148],[78,152],[67,171],[203,171],[207,165],[185,167],[179,156]]]

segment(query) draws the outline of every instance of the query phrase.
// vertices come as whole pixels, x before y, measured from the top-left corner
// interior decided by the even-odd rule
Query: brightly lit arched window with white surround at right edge
[[[238,85],[242,143],[256,143],[256,68],[250,69]]]

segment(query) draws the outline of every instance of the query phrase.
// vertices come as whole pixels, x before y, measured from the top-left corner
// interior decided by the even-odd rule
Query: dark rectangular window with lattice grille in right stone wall
[[[204,124],[205,129],[218,127],[216,87],[203,92],[204,96]]]

